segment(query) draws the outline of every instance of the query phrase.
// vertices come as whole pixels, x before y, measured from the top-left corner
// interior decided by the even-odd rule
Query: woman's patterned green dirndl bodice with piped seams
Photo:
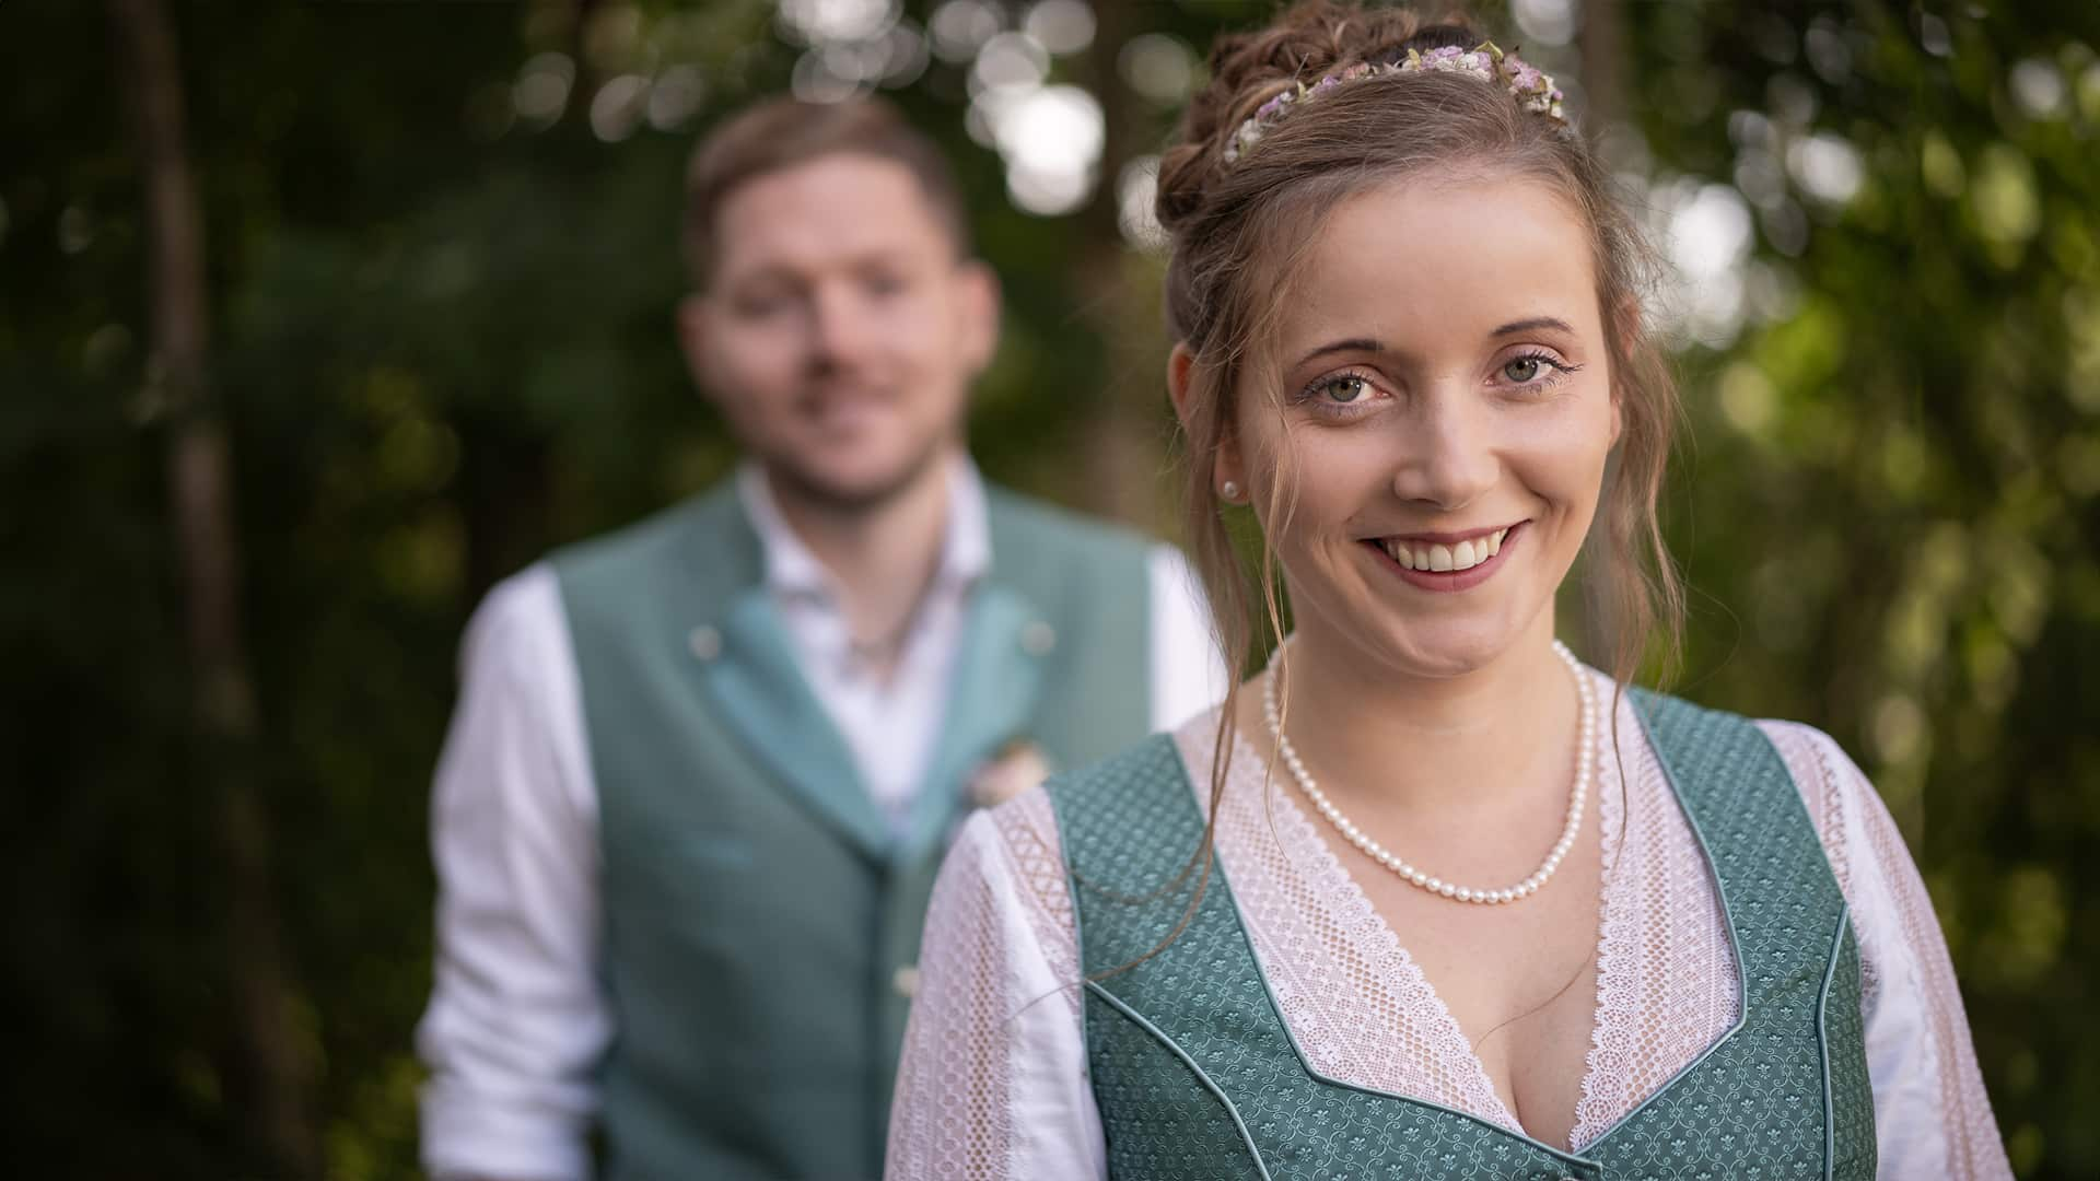
[[[1180,874],[1203,817],[1163,735],[1054,780],[1109,1177],[1871,1181],[1858,954],[1808,809],[1758,727],[1638,689],[1634,700],[1714,872],[1743,1015],[1581,1154],[1321,1076],[1216,866],[1189,927],[1113,971],[1182,920],[1197,874]]]

